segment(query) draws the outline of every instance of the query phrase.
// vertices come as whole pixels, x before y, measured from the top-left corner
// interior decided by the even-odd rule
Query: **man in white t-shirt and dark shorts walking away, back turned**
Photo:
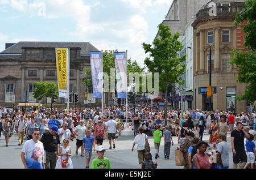
[[[109,121],[106,122],[106,132],[108,132],[109,139],[109,149],[112,149],[112,141],[113,140],[113,148],[115,148],[115,133],[117,133],[117,122],[113,120],[113,116],[110,115]]]

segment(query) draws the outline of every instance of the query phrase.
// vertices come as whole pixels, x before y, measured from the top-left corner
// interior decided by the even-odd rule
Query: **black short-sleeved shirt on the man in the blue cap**
[[[44,144],[44,150],[56,152],[57,144],[60,144],[59,134],[52,135],[49,131],[44,132],[41,142]]]

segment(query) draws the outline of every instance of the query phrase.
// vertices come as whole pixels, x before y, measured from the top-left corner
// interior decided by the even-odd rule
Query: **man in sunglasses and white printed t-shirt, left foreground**
[[[45,169],[43,163],[44,146],[39,139],[40,131],[38,128],[32,132],[32,139],[24,143],[20,157],[25,169]]]

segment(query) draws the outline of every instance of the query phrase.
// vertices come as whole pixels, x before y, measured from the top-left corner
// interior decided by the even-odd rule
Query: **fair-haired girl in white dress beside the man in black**
[[[71,147],[68,145],[69,140],[66,138],[63,140],[63,146],[59,149],[59,156],[57,163],[56,163],[56,169],[73,169],[73,164],[71,160]],[[66,167],[63,168],[61,165],[61,160],[65,162]]]

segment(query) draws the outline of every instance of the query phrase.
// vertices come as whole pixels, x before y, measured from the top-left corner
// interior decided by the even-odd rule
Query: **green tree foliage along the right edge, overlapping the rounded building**
[[[245,35],[243,45],[248,50],[244,53],[242,50],[232,50],[231,65],[238,67],[238,83],[249,84],[242,96],[237,97],[238,101],[247,100],[251,105],[256,101],[256,0],[247,0],[246,7],[236,15],[234,25],[246,21],[247,25],[242,25]]]

